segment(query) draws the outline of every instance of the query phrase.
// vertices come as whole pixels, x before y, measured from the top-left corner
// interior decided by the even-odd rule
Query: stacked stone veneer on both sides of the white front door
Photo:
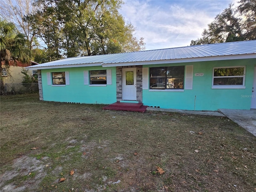
[[[116,101],[122,101],[122,68],[136,68],[137,101],[142,103],[142,66],[116,67]]]

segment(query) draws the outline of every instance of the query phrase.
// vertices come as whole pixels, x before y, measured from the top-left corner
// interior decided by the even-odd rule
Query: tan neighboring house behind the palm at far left
[[[6,66],[4,65],[4,62],[2,62],[2,71],[1,71],[1,76],[2,76],[2,81],[4,84],[21,84],[22,83],[22,77],[23,74],[22,68],[31,66],[31,65],[36,65],[38,63],[31,61],[31,63],[22,63],[20,61],[14,62],[14,60],[10,60],[9,62],[9,67],[6,69]],[[7,71],[8,70],[8,71]],[[37,70],[32,70],[30,71],[30,75],[36,76]]]

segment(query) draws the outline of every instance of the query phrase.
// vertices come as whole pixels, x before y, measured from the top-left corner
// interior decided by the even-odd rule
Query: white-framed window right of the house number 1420
[[[213,88],[244,86],[245,67],[221,67],[213,69]]]

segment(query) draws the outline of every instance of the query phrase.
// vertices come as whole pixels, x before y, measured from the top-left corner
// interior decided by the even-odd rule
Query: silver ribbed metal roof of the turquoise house
[[[117,64],[129,62],[150,62],[160,60],[175,60],[187,58],[200,58],[211,56],[230,56],[239,54],[255,54],[256,40],[227,42],[218,44],[206,44],[197,46],[186,46],[178,48],[167,48],[158,50],[146,50],[140,52],[126,52],[117,54],[106,54],[97,56],[73,57],[56,60],[44,64],[29,66],[28,68],[40,68],[50,66],[66,66],[85,64]]]

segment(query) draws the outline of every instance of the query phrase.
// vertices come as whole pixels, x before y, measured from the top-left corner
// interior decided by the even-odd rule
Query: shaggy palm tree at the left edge
[[[0,19],[0,60],[5,61],[5,65],[11,59],[19,60],[24,63],[30,62],[32,54],[27,46],[24,34],[16,29],[14,23]]]

